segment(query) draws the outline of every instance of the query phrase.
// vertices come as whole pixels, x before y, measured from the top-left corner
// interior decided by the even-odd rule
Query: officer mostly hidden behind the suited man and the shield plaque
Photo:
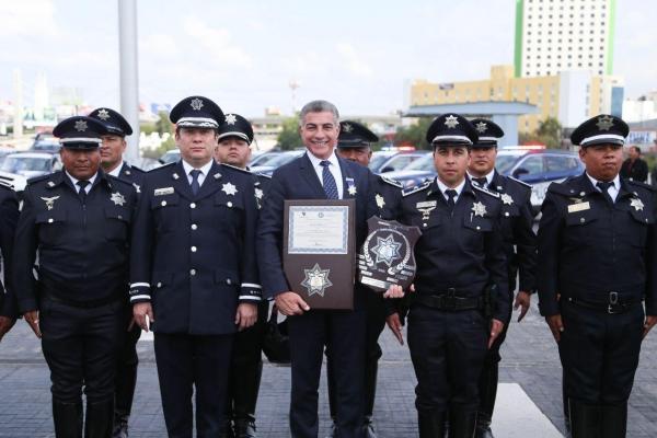
[[[372,157],[371,143],[379,141],[379,137],[369,130],[367,126],[353,120],[343,120],[339,123],[339,135],[337,137],[337,154],[346,160],[354,161],[364,166],[368,166]],[[382,175],[376,175],[373,183],[374,197],[379,216],[384,219],[396,217],[396,211],[401,205],[402,185],[393,180]],[[365,427],[368,438],[376,438],[372,415],[374,412],[374,397],[377,393],[377,371],[379,358],[382,355],[379,345],[379,335],[385,326],[385,302],[380,293],[372,290],[366,290],[366,312],[367,312],[367,338],[366,338],[366,358],[365,358]],[[326,351],[328,354],[328,350]],[[330,355],[328,355],[330,356]],[[332,436],[335,435],[335,378],[333,376],[331,357],[327,358],[326,366],[328,377],[328,407],[331,418],[333,419]]]

